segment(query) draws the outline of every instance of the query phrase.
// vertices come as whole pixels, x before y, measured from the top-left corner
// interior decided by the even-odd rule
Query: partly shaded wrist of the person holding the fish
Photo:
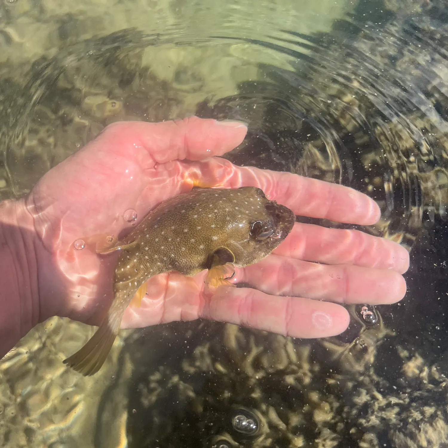
[[[24,201],[0,202],[0,358],[39,322],[35,242]]]

